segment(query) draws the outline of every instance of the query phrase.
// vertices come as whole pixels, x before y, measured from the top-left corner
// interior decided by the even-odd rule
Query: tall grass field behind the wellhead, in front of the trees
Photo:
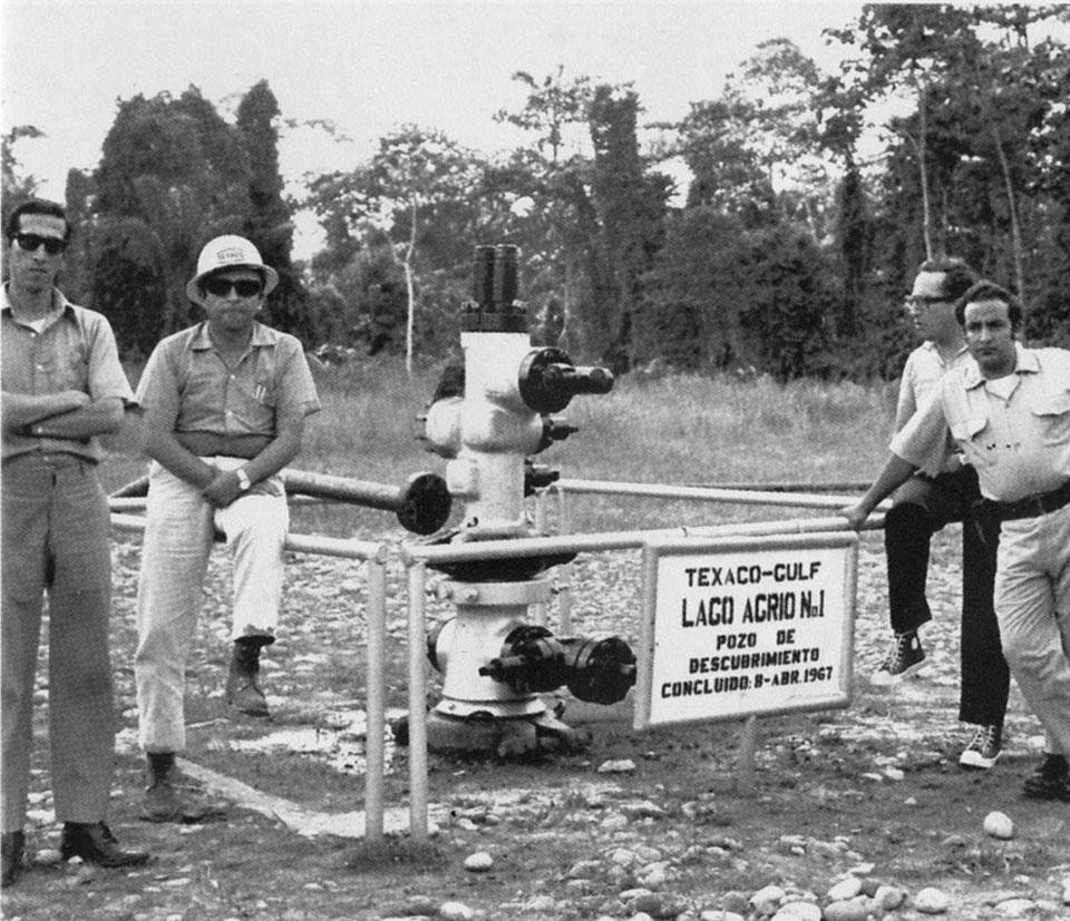
[[[293,466],[390,486],[418,471],[441,472],[444,461],[418,438],[417,419],[438,374],[426,368],[409,378],[392,359],[315,369],[323,411],[310,420]],[[571,479],[628,482],[867,480],[885,455],[893,412],[888,385],[625,375],[605,396],[573,400],[561,417],[578,433],[536,461]],[[106,482],[118,486],[143,467],[136,453],[119,451],[106,463]],[[577,499],[576,515],[581,530],[755,517],[735,507],[615,498]],[[299,509],[295,519],[302,530],[332,535],[396,527],[391,516],[353,507]]]

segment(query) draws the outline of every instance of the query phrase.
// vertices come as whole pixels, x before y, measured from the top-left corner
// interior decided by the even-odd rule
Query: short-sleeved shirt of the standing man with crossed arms
[[[124,404],[132,403],[134,392],[107,317],[71,304],[59,291],[52,292],[52,303],[57,319],[38,332],[16,320],[4,285],[0,307],[3,390],[35,396],[80,390],[93,400],[118,398]],[[4,430],[4,460],[31,451],[66,451],[93,461],[101,457],[95,438],[31,438]]]

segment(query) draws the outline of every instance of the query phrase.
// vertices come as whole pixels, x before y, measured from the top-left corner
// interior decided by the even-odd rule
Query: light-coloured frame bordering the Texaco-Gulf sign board
[[[839,625],[840,656],[838,679],[833,693],[814,696],[798,703],[778,706],[736,708],[726,713],[714,713],[681,719],[652,719],[652,694],[654,666],[658,645],[658,578],[660,561],[665,557],[690,557],[699,553],[714,557],[718,553],[739,553],[748,551],[792,551],[792,550],[845,550],[846,559],[843,574],[843,623]],[[651,538],[643,543],[642,551],[642,631],[638,650],[638,674],[635,686],[635,709],[633,728],[648,729],[654,726],[688,725],[697,723],[717,723],[747,719],[751,716],[777,716],[805,711],[837,709],[850,706],[854,674],[854,629],[855,607],[858,585],[858,533],[853,530],[824,531],[814,533],[762,535],[758,537],[671,537]]]

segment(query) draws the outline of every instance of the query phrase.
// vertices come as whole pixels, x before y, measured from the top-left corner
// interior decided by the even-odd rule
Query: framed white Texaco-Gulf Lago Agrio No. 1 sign
[[[635,728],[850,704],[858,536],[643,548]]]

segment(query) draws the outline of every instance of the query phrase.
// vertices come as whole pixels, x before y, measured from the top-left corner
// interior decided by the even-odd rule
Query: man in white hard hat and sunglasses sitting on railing
[[[216,531],[234,561],[226,704],[269,715],[257,675],[282,594],[289,511],[279,473],[320,409],[301,343],[255,319],[278,283],[244,237],[210,241],[186,286],[207,319],[156,346],[137,390],[152,459],[135,657],[150,821],[210,812],[178,796],[175,755],[185,747],[185,663]]]

